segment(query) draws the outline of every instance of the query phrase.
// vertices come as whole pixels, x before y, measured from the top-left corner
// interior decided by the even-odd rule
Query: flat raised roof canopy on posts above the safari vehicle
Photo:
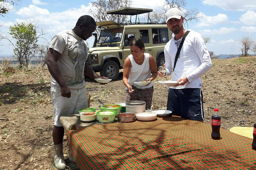
[[[119,8],[117,10],[111,10],[107,11],[107,14],[112,14],[112,15],[130,15],[130,23],[132,19],[132,15],[136,15],[135,23],[137,22],[137,15],[142,14],[142,13],[148,13],[148,21],[150,20],[149,18],[149,12],[152,12],[152,9],[147,9],[147,8],[130,8],[130,7],[124,7],[124,8]]]

